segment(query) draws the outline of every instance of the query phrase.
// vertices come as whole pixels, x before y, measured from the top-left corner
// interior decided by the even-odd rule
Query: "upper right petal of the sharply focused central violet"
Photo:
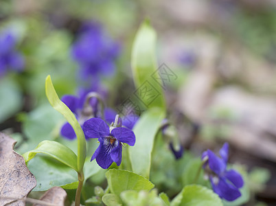
[[[123,127],[113,128],[111,135],[121,142],[124,142],[130,146],[135,144],[135,134],[132,130]]]

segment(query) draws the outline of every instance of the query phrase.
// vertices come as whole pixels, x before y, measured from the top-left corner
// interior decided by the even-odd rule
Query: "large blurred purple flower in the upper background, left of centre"
[[[112,76],[115,59],[119,55],[119,44],[104,34],[100,25],[87,23],[72,47],[72,56],[80,65],[82,78]]]

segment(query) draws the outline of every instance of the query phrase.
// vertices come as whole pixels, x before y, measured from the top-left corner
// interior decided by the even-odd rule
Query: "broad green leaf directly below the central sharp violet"
[[[125,190],[149,191],[154,187],[148,179],[127,170],[108,170],[106,172],[106,179],[111,192],[117,194],[117,196]]]

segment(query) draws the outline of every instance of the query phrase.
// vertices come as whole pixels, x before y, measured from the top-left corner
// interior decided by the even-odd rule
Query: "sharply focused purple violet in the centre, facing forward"
[[[117,118],[116,118],[117,119]],[[91,161],[96,159],[100,167],[107,169],[115,162],[122,162],[122,143],[130,146],[135,145],[135,134],[132,130],[118,126],[115,119],[115,127],[108,127],[106,122],[100,118],[91,118],[84,122],[83,130],[86,138],[97,138],[100,146],[95,150]]]

